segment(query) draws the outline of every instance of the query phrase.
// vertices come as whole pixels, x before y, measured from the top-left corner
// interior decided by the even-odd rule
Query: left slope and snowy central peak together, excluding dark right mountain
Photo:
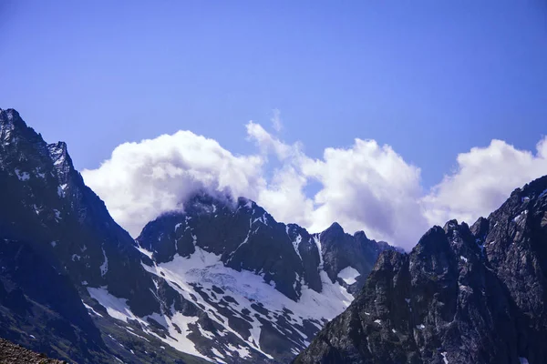
[[[391,249],[205,193],[136,243],[67,146],[11,109],[0,110],[0,186],[0,336],[82,363],[287,362]]]

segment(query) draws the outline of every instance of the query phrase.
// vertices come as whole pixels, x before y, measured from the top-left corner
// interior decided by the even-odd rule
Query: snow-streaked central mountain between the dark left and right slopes
[[[203,192],[184,211],[151,221],[137,243],[150,256],[150,273],[212,312],[196,321],[199,345],[214,346],[222,353],[217,359],[229,356],[218,348],[226,342],[279,362],[349,305],[378,254],[390,248],[337,224],[310,234],[276,222],[247,198]]]

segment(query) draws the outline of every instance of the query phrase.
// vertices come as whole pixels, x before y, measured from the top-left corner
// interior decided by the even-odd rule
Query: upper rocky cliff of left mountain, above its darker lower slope
[[[0,111],[0,231],[23,239],[76,283],[108,290],[139,313],[159,306],[133,239],[74,169],[15,110]],[[135,299],[138,297],[138,299]]]

